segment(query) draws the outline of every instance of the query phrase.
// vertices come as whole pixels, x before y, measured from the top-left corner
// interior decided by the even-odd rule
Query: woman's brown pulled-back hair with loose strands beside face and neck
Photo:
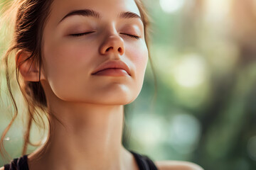
[[[144,33],[145,33],[145,40],[146,46],[149,47],[149,15],[146,11],[144,4],[142,4],[142,0],[134,0],[139,8],[139,12],[142,16],[142,21],[144,23]],[[42,64],[42,45],[43,45],[43,29],[50,15],[50,6],[53,3],[53,0],[18,0],[18,1],[11,1],[11,3],[4,4],[4,9],[7,10],[2,11],[3,16],[1,18],[10,18],[11,13],[15,13],[14,16],[15,23],[10,24],[9,26],[12,27],[13,35],[11,38],[11,44],[9,48],[6,50],[6,53],[3,55],[2,62],[5,66],[5,77],[6,77],[6,86],[7,92],[11,98],[11,103],[14,106],[14,115],[11,118],[9,125],[4,129],[4,132],[1,135],[0,140],[0,152],[3,157],[6,154],[6,150],[4,149],[4,138],[6,137],[6,133],[9,132],[11,125],[13,125],[14,120],[17,118],[19,113],[16,99],[14,98],[14,94],[11,88],[11,72],[14,72],[14,69],[11,69],[11,64],[14,64],[12,60],[14,60],[14,55],[18,50],[25,50],[27,52],[31,52],[31,55],[26,58],[26,60],[32,60],[35,64],[38,65],[39,70],[41,69]],[[3,26],[3,24],[1,24]],[[11,62],[10,62],[11,60]],[[47,102],[46,102],[46,94],[43,91],[43,87],[41,86],[40,82],[40,71],[38,81],[25,81],[19,78],[19,66],[26,62],[23,60],[22,62],[16,62],[15,74],[16,79],[15,81],[18,83],[18,87],[21,90],[21,94],[23,99],[26,103],[26,131],[23,134],[23,151],[22,155],[26,154],[28,144],[33,146],[39,146],[42,144],[42,141],[38,144],[33,144],[30,140],[30,132],[31,132],[31,125],[32,123],[36,123],[39,125],[37,118],[41,118],[40,120],[43,123],[43,130],[46,129],[46,123],[43,121],[43,117],[46,116],[48,119],[48,128],[50,135],[50,117],[55,116],[48,111]],[[18,61],[18,56],[17,56]],[[149,56],[149,62],[151,64],[151,69],[153,69],[154,74],[154,67],[151,62],[151,57]],[[153,75],[155,78],[155,74]],[[156,81],[155,81],[156,86]],[[46,142],[48,143],[48,142]],[[45,144],[46,145],[46,144]],[[8,153],[7,153],[8,154]]]

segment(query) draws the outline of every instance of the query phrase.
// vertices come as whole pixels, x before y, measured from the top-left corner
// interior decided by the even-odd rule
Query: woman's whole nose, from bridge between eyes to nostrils
[[[107,26],[105,28],[105,36],[100,45],[100,54],[107,55],[111,52],[118,53],[119,55],[124,54],[124,40],[119,36],[116,28]]]

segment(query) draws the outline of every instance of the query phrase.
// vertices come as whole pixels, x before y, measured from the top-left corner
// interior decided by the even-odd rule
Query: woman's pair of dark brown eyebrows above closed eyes
[[[97,11],[93,11],[91,9],[81,9],[81,10],[71,11],[70,13],[65,15],[60,20],[60,22],[63,21],[65,18],[68,18],[69,16],[92,16],[92,17],[95,17],[95,18],[98,18],[98,19],[102,18],[100,13],[98,13]],[[132,13],[132,12],[129,12],[129,11],[119,13],[118,17],[119,18],[139,18],[140,20],[142,20],[142,17],[140,17],[137,13]]]

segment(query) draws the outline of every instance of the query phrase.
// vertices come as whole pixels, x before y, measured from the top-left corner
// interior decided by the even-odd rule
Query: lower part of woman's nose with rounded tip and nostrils
[[[116,53],[124,55],[124,40],[117,34],[107,35],[100,45],[100,54],[109,55]]]

